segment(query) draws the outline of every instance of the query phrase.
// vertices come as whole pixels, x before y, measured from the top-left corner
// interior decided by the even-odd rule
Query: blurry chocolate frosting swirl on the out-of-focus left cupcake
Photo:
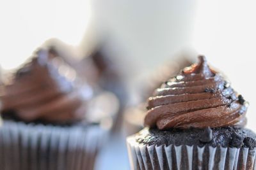
[[[90,87],[78,85],[76,71],[52,48],[41,48],[9,83],[0,85],[1,113],[26,122],[67,123],[84,118]]]

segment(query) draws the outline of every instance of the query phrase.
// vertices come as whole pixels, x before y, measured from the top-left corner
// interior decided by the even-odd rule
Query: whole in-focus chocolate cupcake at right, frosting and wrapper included
[[[132,169],[255,169],[248,103],[199,59],[149,97],[145,129],[127,138]]]

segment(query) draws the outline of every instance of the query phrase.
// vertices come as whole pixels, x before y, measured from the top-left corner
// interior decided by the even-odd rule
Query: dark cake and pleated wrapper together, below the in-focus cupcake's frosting
[[[143,129],[127,138],[131,169],[256,169],[255,134],[239,127]]]

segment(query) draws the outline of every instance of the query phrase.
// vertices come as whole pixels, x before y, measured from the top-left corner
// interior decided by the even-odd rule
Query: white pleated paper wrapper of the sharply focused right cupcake
[[[141,145],[127,138],[131,169],[256,169],[255,149]]]

